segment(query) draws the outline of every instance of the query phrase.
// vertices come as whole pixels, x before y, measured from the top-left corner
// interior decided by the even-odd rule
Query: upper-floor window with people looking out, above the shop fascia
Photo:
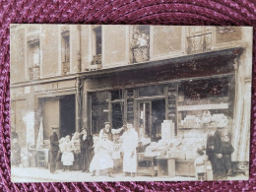
[[[135,26],[131,40],[131,62],[150,60],[150,26]]]

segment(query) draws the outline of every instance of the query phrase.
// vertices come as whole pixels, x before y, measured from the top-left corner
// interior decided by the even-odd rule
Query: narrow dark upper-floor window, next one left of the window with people
[[[93,55],[94,55],[94,60],[93,64],[101,64],[101,53],[102,53],[102,28],[101,26],[95,26],[94,27],[94,33],[93,33]]]

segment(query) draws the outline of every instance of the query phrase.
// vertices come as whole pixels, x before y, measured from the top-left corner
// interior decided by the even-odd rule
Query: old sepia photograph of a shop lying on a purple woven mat
[[[249,178],[251,27],[10,33],[12,182]]]

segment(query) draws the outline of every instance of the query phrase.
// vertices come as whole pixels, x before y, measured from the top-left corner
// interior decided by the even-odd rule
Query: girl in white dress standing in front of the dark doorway
[[[74,154],[72,152],[72,143],[70,141],[70,136],[66,136],[66,141],[64,143],[64,152],[61,157],[61,161],[64,165],[64,171],[70,170],[70,166],[73,165],[74,162]]]

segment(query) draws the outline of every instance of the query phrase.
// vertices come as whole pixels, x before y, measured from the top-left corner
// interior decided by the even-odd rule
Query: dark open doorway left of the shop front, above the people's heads
[[[60,137],[72,136],[76,132],[76,101],[75,95],[61,96],[60,106]]]

